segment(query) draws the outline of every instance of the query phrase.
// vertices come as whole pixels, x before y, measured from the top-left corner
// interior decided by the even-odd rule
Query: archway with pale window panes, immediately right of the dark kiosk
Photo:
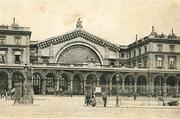
[[[42,77],[38,73],[33,74],[33,89],[34,94],[41,94]]]

